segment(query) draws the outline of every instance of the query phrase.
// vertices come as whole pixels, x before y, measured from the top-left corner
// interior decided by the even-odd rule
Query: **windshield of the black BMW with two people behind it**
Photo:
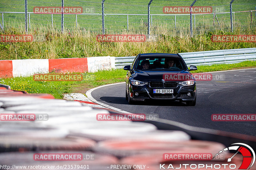
[[[136,62],[135,69],[185,70],[186,65],[178,57],[140,57]]]

